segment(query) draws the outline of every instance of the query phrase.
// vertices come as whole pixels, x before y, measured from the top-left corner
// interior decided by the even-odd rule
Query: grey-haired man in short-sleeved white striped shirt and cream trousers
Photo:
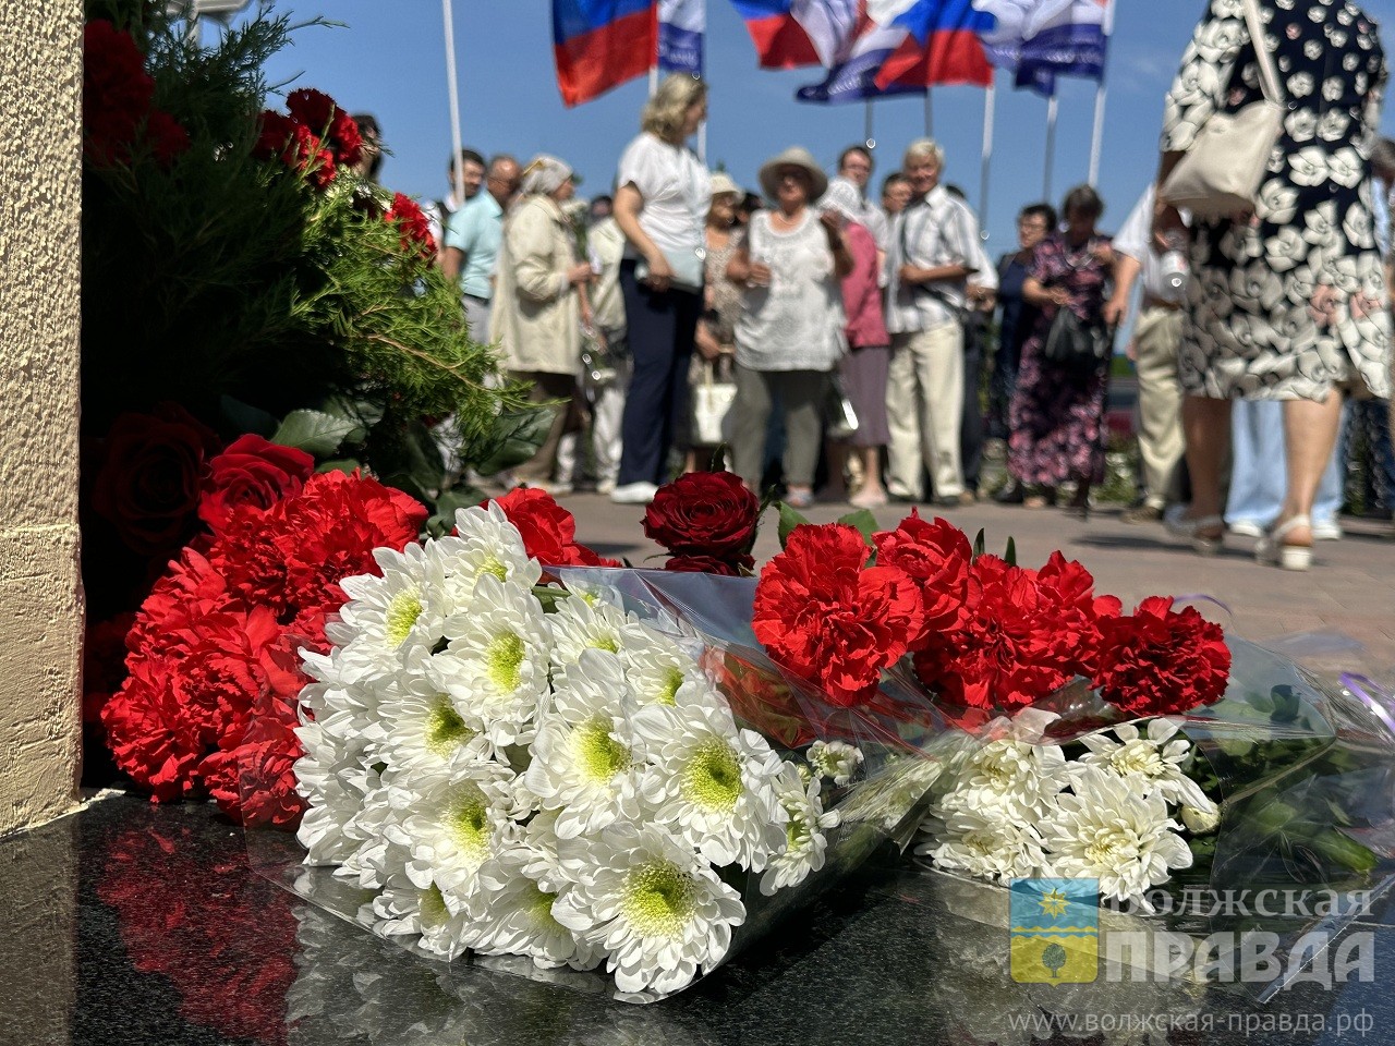
[[[940,185],[943,169],[939,145],[929,138],[911,142],[901,170],[914,195],[887,237],[887,490],[904,501],[922,501],[921,476],[929,469],[935,503],[957,505],[964,494],[963,310],[982,247],[968,208]]]

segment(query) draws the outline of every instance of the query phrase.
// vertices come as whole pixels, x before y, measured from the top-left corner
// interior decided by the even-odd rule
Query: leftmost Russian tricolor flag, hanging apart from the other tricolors
[[[552,54],[568,106],[643,77],[657,50],[654,0],[552,0]]]

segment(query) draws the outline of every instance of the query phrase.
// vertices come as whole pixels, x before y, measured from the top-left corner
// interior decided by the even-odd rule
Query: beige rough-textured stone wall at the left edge
[[[0,834],[77,796],[81,39],[0,0]]]

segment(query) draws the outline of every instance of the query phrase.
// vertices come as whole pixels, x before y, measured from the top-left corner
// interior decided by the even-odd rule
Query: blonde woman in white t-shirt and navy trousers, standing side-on
[[[688,413],[688,361],[702,311],[709,179],[685,145],[707,116],[707,88],[686,74],[658,85],[643,132],[619,159],[615,223],[628,243],[619,283],[635,364],[611,501],[651,501],[667,480]]]

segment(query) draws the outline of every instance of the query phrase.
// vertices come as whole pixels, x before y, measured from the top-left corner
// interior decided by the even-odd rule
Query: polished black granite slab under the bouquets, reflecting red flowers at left
[[[1395,1042],[1389,904],[1348,930],[1374,936],[1374,982],[1260,1004],[1014,983],[1004,930],[877,866],[692,990],[633,1006],[379,941],[254,873],[211,806],[107,798],[0,840],[0,866],[4,1046]]]

